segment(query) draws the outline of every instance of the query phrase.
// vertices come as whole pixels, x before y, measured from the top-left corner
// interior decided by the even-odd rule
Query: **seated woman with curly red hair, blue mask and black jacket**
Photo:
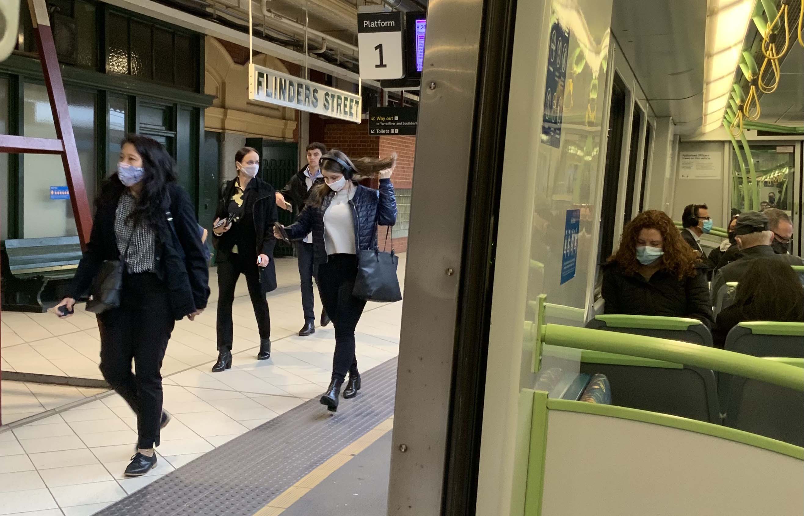
[[[663,211],[644,211],[626,225],[605,264],[603,299],[605,313],[712,323],[706,269]]]

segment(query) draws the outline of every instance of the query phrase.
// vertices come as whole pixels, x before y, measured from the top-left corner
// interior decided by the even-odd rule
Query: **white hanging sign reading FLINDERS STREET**
[[[248,66],[248,100],[300,109],[360,123],[360,96],[289,76],[256,64]]]

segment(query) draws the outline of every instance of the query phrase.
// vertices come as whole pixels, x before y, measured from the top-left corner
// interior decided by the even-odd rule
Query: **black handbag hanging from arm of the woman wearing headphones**
[[[377,245],[372,249],[360,249],[360,221],[355,235],[355,251],[357,252],[357,277],[352,295],[366,301],[379,303],[392,303],[402,300],[400,281],[396,277],[396,265],[399,256],[394,253],[394,240],[391,238],[391,252],[381,252]],[[391,228],[385,233],[388,244],[388,235]],[[383,246],[385,248],[385,246]]]

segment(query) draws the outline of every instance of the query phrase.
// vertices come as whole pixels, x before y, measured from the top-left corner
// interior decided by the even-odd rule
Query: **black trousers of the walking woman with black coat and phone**
[[[253,260],[252,260],[253,258]],[[232,252],[229,259],[218,264],[218,350],[232,350],[232,303],[235,301],[235,285],[240,274],[246,276],[248,296],[251,297],[260,339],[271,338],[271,314],[268,301],[262,293],[260,271],[256,255],[240,256]]]

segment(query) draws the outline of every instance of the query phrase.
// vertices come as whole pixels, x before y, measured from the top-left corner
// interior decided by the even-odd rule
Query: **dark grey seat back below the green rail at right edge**
[[[804,358],[767,359],[804,367]],[[727,426],[804,446],[804,392],[736,376],[726,407]]]

